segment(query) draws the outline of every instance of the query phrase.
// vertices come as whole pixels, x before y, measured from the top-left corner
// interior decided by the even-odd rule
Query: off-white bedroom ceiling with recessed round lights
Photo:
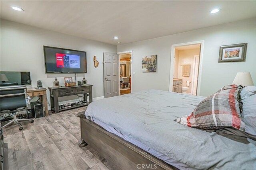
[[[256,1],[8,1],[1,18],[120,45],[256,16]],[[14,11],[18,6],[23,12]],[[216,14],[209,11],[221,8]],[[114,40],[118,36],[120,39]],[[118,44],[120,41],[122,43]]]

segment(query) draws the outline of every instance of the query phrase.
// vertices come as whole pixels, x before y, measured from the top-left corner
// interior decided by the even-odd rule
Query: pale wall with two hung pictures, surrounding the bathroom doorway
[[[250,72],[256,83],[256,19],[216,25],[145,41],[118,45],[118,52],[132,50],[133,92],[144,89],[169,90],[171,45],[204,40],[200,96],[208,96],[231,84],[237,72]],[[218,63],[220,45],[248,43],[246,62]],[[142,73],[141,58],[157,55],[157,72]]]

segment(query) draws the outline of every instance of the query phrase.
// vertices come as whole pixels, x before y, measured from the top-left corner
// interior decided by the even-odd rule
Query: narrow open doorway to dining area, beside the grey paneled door
[[[132,53],[119,53],[120,95],[131,93],[132,88]]]

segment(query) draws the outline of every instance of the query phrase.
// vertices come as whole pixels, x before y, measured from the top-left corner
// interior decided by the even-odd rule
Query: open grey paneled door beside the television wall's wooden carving
[[[118,72],[119,72],[118,54],[103,53],[103,67],[104,67],[104,98],[118,96]]]

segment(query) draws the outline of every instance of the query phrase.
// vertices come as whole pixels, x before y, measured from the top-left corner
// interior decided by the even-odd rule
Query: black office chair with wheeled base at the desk
[[[26,86],[0,86],[0,111],[1,113],[12,114],[13,119],[10,120],[2,128],[10,125],[11,123],[16,123],[20,125],[20,130],[23,129],[19,121],[30,120],[31,123],[34,119],[17,119],[16,114],[19,111],[25,110],[28,107],[30,97],[27,95]]]

